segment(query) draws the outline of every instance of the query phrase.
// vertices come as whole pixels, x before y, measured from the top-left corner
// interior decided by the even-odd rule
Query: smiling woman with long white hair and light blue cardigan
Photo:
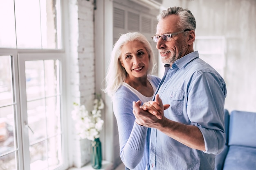
[[[145,170],[149,163],[150,129],[135,123],[132,102],[147,102],[155,94],[160,78],[151,75],[153,57],[152,48],[144,35],[123,34],[112,50],[106,76],[107,86],[104,91],[113,101],[120,157],[127,168],[134,170]],[[138,129],[140,133],[137,133]]]

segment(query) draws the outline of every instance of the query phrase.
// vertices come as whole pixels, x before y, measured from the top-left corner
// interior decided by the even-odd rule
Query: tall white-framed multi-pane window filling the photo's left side
[[[65,170],[60,0],[0,0],[0,170]]]

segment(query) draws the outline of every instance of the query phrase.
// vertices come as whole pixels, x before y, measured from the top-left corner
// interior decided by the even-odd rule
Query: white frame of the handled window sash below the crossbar
[[[65,113],[63,111],[63,58],[65,55],[63,53],[54,53],[54,52],[42,52],[42,53],[18,53],[18,76],[19,76],[19,85],[20,89],[26,89],[26,78],[25,78],[25,61],[36,61],[36,60],[47,60],[47,59],[58,59],[60,61],[60,100],[61,100],[61,146],[62,146],[62,161],[63,166],[65,167],[65,162],[67,162],[67,149],[65,149],[66,140],[65,134],[63,134],[66,130],[65,126]],[[30,168],[30,155],[29,155],[29,138],[24,135],[28,135],[29,128],[27,126],[27,95],[25,90],[20,90],[20,126],[22,131],[22,146],[23,146],[23,161],[24,161],[24,169],[29,170]]]

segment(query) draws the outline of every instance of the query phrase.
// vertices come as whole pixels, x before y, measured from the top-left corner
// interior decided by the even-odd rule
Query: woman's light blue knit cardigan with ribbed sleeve
[[[160,78],[148,75],[155,87]],[[119,132],[120,157],[130,170],[145,170],[149,165],[150,128],[135,122],[132,102],[140,100],[130,89],[121,85],[113,95],[113,111]]]

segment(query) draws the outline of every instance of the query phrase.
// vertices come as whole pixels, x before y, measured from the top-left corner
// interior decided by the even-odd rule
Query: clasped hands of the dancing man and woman
[[[170,105],[163,105],[158,94],[155,96],[155,101],[144,102],[141,106],[141,101],[132,102],[133,114],[136,118],[136,123],[146,127],[157,127],[164,121],[164,110]]]

